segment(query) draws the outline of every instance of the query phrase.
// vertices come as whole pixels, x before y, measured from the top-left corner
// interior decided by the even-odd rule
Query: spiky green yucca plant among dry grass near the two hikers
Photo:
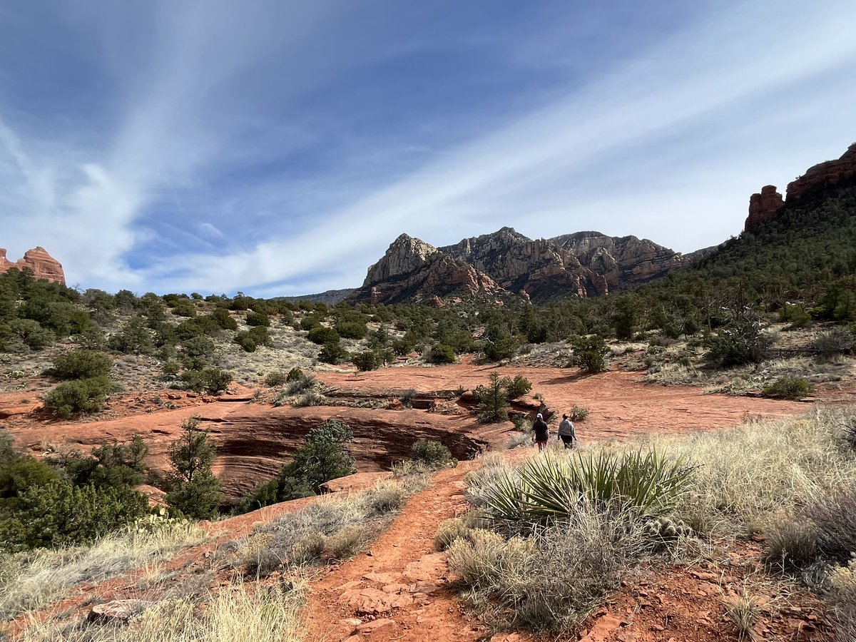
[[[597,453],[575,459],[546,455],[503,474],[483,492],[495,520],[546,524],[567,520],[587,499],[619,502],[643,517],[666,514],[693,474],[681,459],[651,449],[621,455]]]

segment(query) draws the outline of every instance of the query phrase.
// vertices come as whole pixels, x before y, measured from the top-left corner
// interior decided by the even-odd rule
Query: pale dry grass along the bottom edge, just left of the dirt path
[[[134,616],[127,626],[33,623],[23,642],[299,642],[298,609],[306,583],[265,588],[234,584],[210,597],[204,609],[190,599],[163,601]]]

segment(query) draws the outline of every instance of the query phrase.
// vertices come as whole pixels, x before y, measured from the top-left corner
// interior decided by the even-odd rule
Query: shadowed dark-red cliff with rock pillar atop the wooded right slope
[[[831,187],[839,181],[856,176],[856,143],[847,147],[847,152],[837,160],[817,163],[805,170],[795,181],[788,183],[786,197],[776,192],[775,185],[767,185],[760,193],[752,194],[749,199],[749,216],[746,218],[746,232],[757,229],[768,221],[776,218],[779,211],[787,205],[794,205],[806,194],[813,193],[825,187]]]

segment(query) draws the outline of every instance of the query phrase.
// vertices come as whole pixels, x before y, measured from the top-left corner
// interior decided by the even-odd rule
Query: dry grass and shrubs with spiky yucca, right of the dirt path
[[[467,477],[471,512],[435,541],[489,621],[562,630],[643,561],[712,559],[761,533],[772,577],[817,591],[835,639],[851,639],[853,421],[851,410],[817,411],[641,447],[555,449],[518,467],[491,456]],[[751,606],[751,595],[728,606],[750,637]]]

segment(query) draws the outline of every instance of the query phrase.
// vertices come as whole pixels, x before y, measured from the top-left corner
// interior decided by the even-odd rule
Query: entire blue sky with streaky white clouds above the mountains
[[[856,140],[856,3],[0,5],[0,247],[68,283],[306,294],[401,232],[690,252]]]

